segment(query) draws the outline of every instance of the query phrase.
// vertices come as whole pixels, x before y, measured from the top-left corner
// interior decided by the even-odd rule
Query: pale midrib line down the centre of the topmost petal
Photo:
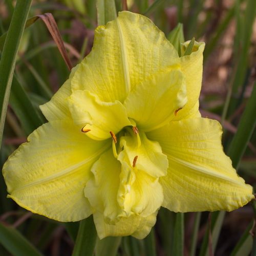
[[[131,91],[129,64],[128,64],[128,60],[127,60],[127,52],[126,52],[126,48],[125,48],[125,42],[123,40],[123,32],[122,32],[122,28],[118,22],[118,18],[116,19],[116,24],[117,24],[118,35],[119,35],[119,44],[120,44],[124,84],[125,84],[126,93],[128,94]]]

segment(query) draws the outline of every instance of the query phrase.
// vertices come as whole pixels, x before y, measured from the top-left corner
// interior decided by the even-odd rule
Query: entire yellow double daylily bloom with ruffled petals
[[[184,44],[186,47],[187,44]],[[203,42],[179,57],[150,19],[120,12],[41,106],[49,121],[10,156],[10,198],[62,222],[93,214],[100,238],[144,238],[161,206],[233,210],[254,198],[199,112]]]

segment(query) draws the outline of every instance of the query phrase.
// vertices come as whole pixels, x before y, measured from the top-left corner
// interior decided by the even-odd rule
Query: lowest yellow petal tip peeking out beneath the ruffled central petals
[[[93,219],[100,239],[109,236],[133,236],[137,239],[143,239],[155,225],[156,215],[157,211],[146,218],[141,216],[131,216],[129,218],[123,217],[115,225],[104,222],[103,215],[100,214],[100,212],[96,212],[93,215]]]

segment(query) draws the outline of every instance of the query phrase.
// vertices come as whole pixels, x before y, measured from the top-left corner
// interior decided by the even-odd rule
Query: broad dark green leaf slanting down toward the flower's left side
[[[18,117],[26,135],[42,124],[42,120],[30,102],[26,92],[14,76],[10,94],[10,105]]]

